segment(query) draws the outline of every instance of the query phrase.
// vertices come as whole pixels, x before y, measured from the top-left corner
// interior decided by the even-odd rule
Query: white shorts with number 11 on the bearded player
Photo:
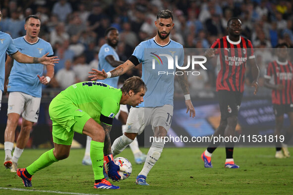
[[[170,104],[159,107],[131,107],[126,122],[128,128],[125,132],[140,135],[147,125],[152,125],[153,131],[155,127],[162,126],[168,132],[172,117],[173,106]]]

